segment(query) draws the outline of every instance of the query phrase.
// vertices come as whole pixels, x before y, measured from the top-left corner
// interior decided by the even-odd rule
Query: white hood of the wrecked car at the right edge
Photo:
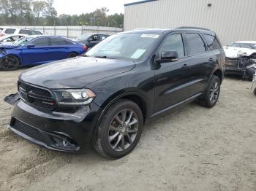
[[[223,47],[227,58],[239,58],[243,56],[250,56],[256,53],[255,49],[241,48],[241,47]]]

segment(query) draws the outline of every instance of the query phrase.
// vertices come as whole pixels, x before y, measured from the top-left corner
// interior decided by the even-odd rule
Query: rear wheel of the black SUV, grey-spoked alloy
[[[211,108],[216,105],[220,93],[220,80],[217,76],[211,76],[208,87],[206,88],[206,93],[203,98],[198,99],[198,103],[201,106],[206,106]]]

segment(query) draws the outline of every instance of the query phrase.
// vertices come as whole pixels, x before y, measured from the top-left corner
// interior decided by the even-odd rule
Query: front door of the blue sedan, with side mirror
[[[51,52],[50,39],[48,37],[38,37],[29,42],[29,44],[34,44],[34,47],[24,47],[22,51],[24,65],[40,64],[51,61],[48,56]]]

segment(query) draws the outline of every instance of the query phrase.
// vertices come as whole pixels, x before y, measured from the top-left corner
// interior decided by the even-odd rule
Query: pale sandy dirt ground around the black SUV
[[[120,160],[52,152],[6,129],[18,74],[0,71],[0,190],[256,190],[256,97],[226,78],[217,106],[197,104],[146,125]]]

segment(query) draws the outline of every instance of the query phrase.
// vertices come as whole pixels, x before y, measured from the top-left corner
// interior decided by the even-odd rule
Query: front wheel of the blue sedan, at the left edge
[[[20,61],[15,55],[7,55],[1,59],[0,66],[5,71],[12,71],[18,69]]]

